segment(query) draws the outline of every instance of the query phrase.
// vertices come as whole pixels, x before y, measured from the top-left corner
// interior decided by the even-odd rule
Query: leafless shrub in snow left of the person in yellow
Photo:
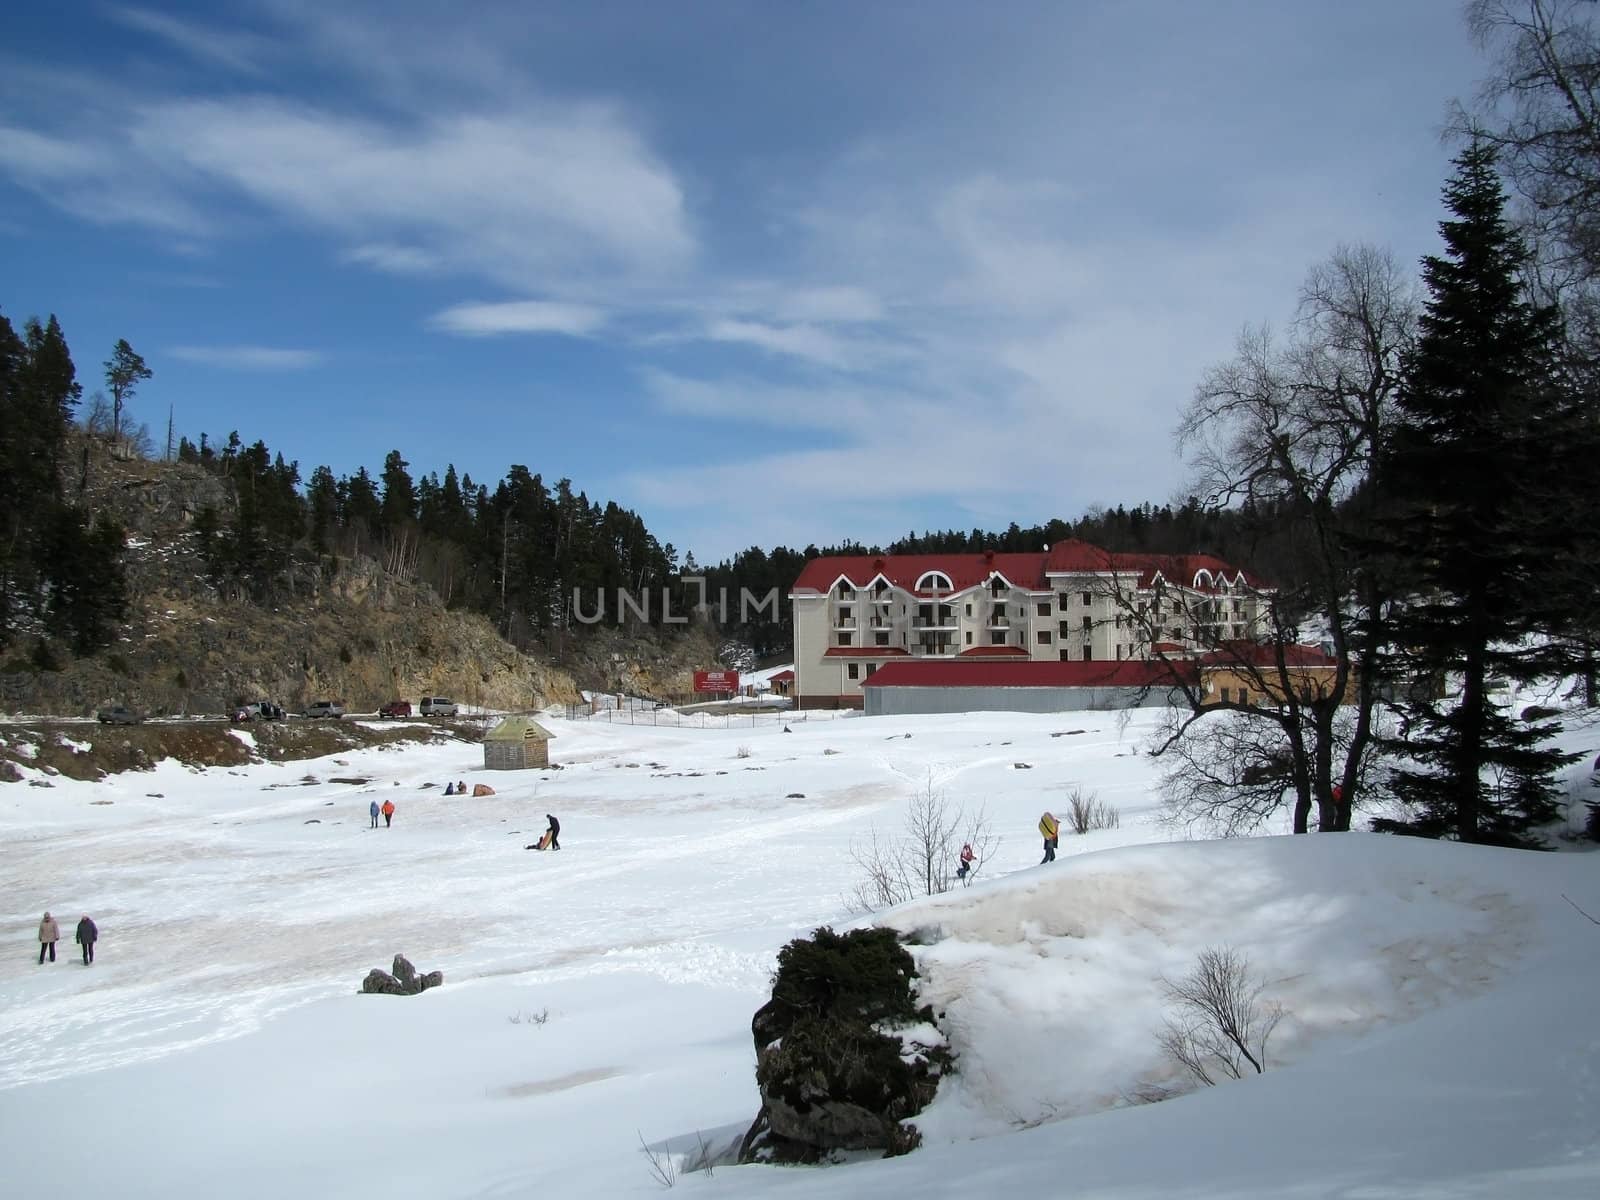
[[[931,776],[906,805],[902,830],[883,834],[872,826],[866,840],[851,843],[850,858],[864,875],[850,894],[858,910],[874,912],[949,891],[957,882],[962,843],[973,848],[968,877],[982,869],[998,846],[984,808],[966,813],[960,805],[952,806]]]

